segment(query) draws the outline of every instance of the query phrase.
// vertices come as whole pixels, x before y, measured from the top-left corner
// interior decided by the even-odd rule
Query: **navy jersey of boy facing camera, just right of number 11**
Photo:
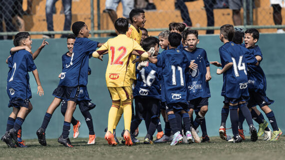
[[[202,48],[196,48],[192,52],[183,49],[183,52],[187,56],[188,61],[195,60],[194,63],[198,65],[194,70],[189,68],[186,74],[188,76],[188,81],[186,82],[188,101],[199,97],[210,97],[209,83],[206,82],[205,77],[207,73],[206,67],[210,65],[206,51]]]

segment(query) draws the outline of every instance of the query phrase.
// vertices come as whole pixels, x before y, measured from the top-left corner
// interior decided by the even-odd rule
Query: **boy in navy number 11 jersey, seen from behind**
[[[186,55],[177,49],[182,37],[178,33],[170,33],[168,37],[169,49],[164,50],[156,58],[148,57],[151,63],[162,67],[164,96],[167,103],[166,113],[173,135],[171,146],[181,142],[181,118],[183,119],[187,140],[192,138],[190,133],[190,118],[187,106],[187,91],[185,70],[190,65]]]

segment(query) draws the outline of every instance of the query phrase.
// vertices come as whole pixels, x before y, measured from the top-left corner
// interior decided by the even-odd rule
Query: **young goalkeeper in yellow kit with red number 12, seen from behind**
[[[141,60],[148,57],[141,46],[134,40],[128,38],[125,33],[128,29],[128,22],[125,18],[118,18],[115,21],[115,32],[118,34],[115,38],[108,39],[92,56],[100,58],[100,55],[108,51],[109,62],[106,69],[106,85],[112,99],[112,106],[108,116],[108,127],[105,139],[109,145],[117,145],[113,136],[113,126],[115,118],[122,104],[124,118],[124,134],[126,146],[132,146],[130,139],[130,122],[131,122],[131,101],[130,101],[130,74],[128,65],[130,62],[131,52],[135,50],[141,55]]]

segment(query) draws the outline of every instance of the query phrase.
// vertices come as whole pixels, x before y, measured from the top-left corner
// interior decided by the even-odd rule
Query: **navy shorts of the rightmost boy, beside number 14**
[[[247,104],[248,108],[255,107],[257,105],[261,108],[274,103],[274,101],[270,100],[268,97],[266,97],[266,95],[261,95],[260,93],[254,91],[248,91],[248,92],[249,92],[249,100]]]

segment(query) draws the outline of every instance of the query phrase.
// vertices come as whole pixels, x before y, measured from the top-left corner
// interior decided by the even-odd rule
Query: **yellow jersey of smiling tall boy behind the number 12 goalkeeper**
[[[135,29],[135,27],[133,25],[130,24],[130,26],[128,27],[128,31],[126,32],[126,36],[135,40],[138,44],[140,44],[140,39],[141,39],[141,30],[138,29],[139,32],[137,32],[137,30]],[[130,57],[130,61],[133,61],[136,58],[135,55],[131,55]],[[130,64],[129,65],[130,69],[130,78],[131,79],[136,79],[135,78],[135,64]]]

